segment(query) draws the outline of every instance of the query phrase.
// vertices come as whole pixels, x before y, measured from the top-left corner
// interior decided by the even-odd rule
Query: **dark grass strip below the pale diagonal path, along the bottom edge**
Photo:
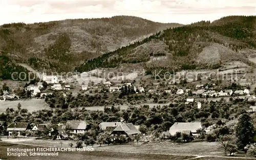
[[[40,146],[29,146],[23,144],[11,144],[0,142],[0,158],[1,159],[189,159],[196,156],[182,156],[182,155],[165,155],[165,154],[150,154],[150,153],[125,153],[125,152],[108,152],[108,151],[70,151],[58,152],[56,156],[8,156],[7,148],[26,148],[33,149]]]

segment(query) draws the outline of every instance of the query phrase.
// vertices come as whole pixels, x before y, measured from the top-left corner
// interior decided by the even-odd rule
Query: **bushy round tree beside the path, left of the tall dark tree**
[[[220,136],[220,138],[217,139],[217,142],[220,144],[220,148],[224,150],[225,156],[227,155],[227,153],[231,155],[232,153],[238,151],[236,141],[236,137],[230,135]]]

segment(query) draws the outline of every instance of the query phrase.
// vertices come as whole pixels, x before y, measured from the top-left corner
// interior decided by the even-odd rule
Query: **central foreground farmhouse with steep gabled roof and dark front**
[[[133,125],[133,123],[125,123],[118,125],[113,131],[112,134],[117,135],[126,135],[130,139],[134,139],[135,135],[141,134],[141,132]]]

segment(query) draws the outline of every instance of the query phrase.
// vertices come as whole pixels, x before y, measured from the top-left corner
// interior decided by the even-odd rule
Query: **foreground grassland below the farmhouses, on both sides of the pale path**
[[[62,141],[62,147],[69,147],[70,141]],[[0,141],[0,159],[17,159],[15,156],[7,156],[7,148],[42,148],[61,147],[60,141],[35,140],[23,141],[19,144]],[[73,147],[74,148],[74,147]],[[142,146],[134,145],[111,145],[94,147],[94,151],[69,151],[58,152],[56,156],[20,156],[18,159],[198,159],[198,160],[228,160],[228,159],[255,159],[242,157],[224,157],[218,150],[216,143],[152,143]],[[202,154],[201,154],[202,153]],[[29,154],[29,153],[28,153]],[[196,155],[191,155],[196,154]]]

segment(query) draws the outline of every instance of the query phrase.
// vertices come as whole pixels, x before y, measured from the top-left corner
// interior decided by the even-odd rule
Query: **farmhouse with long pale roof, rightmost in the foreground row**
[[[193,136],[198,136],[197,129],[201,128],[201,122],[176,122],[170,127],[169,134],[174,136],[176,132],[191,131]]]

